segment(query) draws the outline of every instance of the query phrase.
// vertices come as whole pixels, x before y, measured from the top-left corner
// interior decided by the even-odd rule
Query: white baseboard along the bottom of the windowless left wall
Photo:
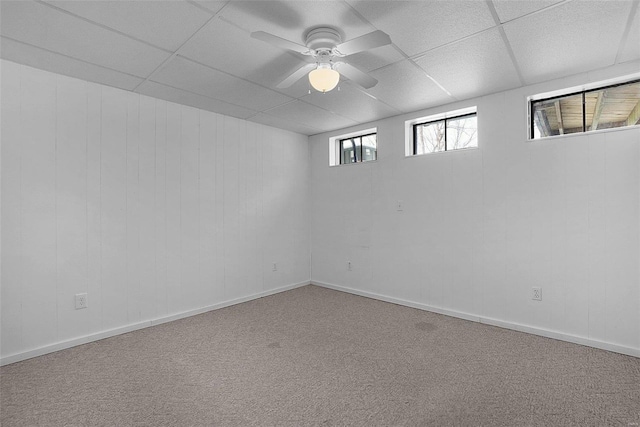
[[[10,354],[0,359],[0,366],[8,365],[10,363],[20,362],[22,360],[31,359],[33,357],[42,356],[44,354],[53,353],[54,351],[64,350],[66,348],[75,347],[77,345],[86,344],[93,341],[113,337],[115,335],[125,334],[127,332],[135,331],[138,329],[148,328],[150,326],[160,325],[162,323],[171,322],[185,317],[195,316],[197,314],[206,313],[208,311],[218,310],[220,308],[229,307],[232,305],[240,304],[242,302],[251,301],[254,299],[266,297],[269,295],[277,294],[280,292],[288,291],[291,289],[299,288],[310,284],[309,281],[294,283],[292,285],[281,286],[279,288],[270,289],[268,291],[258,292],[256,294],[248,295],[246,297],[235,298],[229,301],[223,301],[217,304],[209,305],[206,307],[200,307],[193,310],[187,310],[180,313],[170,314],[168,316],[158,317],[156,319],[145,320],[143,322],[132,323],[130,325],[121,326],[106,331],[100,331],[82,337],[73,338],[66,341],[57,342],[54,344],[38,347],[33,350],[27,350],[19,353]]]

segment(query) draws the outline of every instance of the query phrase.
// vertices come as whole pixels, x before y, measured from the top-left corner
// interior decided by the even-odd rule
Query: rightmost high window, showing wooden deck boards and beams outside
[[[640,124],[640,79],[529,100],[530,139]]]

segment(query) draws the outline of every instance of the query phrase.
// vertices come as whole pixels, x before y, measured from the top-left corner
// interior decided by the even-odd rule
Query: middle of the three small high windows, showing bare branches
[[[478,113],[476,107],[450,111],[405,123],[405,154],[418,156],[478,147]]]

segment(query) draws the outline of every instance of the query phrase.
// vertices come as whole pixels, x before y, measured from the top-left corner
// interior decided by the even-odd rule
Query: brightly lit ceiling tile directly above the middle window
[[[432,50],[416,63],[459,99],[499,92],[521,84],[497,28]]]

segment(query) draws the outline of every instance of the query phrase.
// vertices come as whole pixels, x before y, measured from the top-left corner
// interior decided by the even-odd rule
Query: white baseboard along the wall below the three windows
[[[321,286],[323,288],[334,289],[336,291],[347,292],[354,295],[360,295],[367,298],[373,298],[380,301],[390,302],[393,304],[403,305],[406,307],[417,308],[419,310],[430,311],[433,313],[444,314],[459,319],[470,320],[472,322],[485,323],[487,325],[498,326],[500,328],[511,329],[519,332],[526,332],[533,335],[540,335],[547,338],[553,338],[560,341],[567,341],[574,344],[581,344],[588,347],[599,348],[601,350],[613,351],[615,353],[626,354],[628,356],[640,357],[640,349],[633,347],[625,347],[618,344],[608,343],[605,341],[594,340],[591,338],[571,335],[564,332],[552,331],[549,329],[538,328],[534,326],[523,325],[520,323],[507,322],[504,320],[493,319],[490,317],[478,316],[475,314],[464,313],[461,311],[449,310],[446,308],[434,307],[419,302],[408,301],[400,298],[394,298],[387,295],[377,294],[374,292],[361,291],[359,289],[348,288],[345,286],[334,285],[331,283],[311,281],[312,285]]]

